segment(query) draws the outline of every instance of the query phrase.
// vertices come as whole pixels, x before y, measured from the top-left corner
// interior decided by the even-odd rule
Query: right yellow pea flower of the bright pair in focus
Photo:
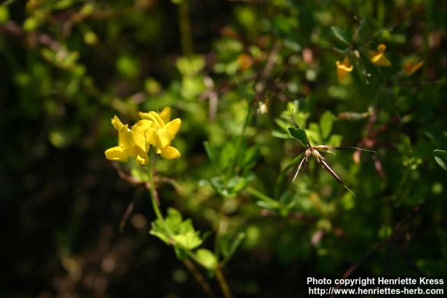
[[[147,113],[140,112],[139,115],[142,118],[141,121],[152,121],[145,136],[147,142],[156,148],[156,153],[166,159],[178,158],[180,153],[175,147],[170,146],[170,142],[179,131],[182,121],[179,118],[169,121],[169,107],[165,107],[159,113],[150,111]]]

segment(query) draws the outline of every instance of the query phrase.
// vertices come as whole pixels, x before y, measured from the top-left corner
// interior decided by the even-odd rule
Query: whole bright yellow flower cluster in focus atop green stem
[[[147,165],[147,152],[151,145],[155,147],[156,154],[163,158],[178,158],[180,153],[170,146],[170,142],[179,131],[182,121],[179,118],[169,121],[169,107],[165,107],[161,112],[140,112],[139,115],[141,120],[132,128],[129,128],[128,124],[122,124],[116,115],[113,117],[112,125],[118,131],[118,146],[107,149],[105,158],[124,163],[133,157],[140,165]]]

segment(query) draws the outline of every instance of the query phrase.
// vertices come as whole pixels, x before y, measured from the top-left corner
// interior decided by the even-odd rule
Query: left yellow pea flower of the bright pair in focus
[[[147,165],[149,144],[146,142],[145,135],[129,129],[129,126],[122,124],[116,115],[112,119],[112,125],[118,131],[118,146],[105,150],[105,158],[125,163],[133,157],[140,165]]]

